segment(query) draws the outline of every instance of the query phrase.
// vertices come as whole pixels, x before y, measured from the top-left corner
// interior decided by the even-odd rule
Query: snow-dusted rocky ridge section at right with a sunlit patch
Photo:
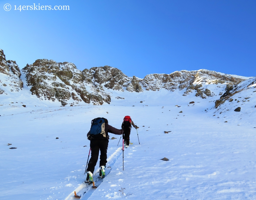
[[[226,85],[233,86],[244,80],[246,80],[246,77],[201,69],[198,71],[181,70],[171,74],[149,74],[140,82],[146,90],[157,91],[167,89],[175,91],[186,88],[183,96],[187,96],[195,91],[195,96],[207,98],[208,96],[216,95],[207,88],[210,84],[222,84],[222,87],[226,87]]]

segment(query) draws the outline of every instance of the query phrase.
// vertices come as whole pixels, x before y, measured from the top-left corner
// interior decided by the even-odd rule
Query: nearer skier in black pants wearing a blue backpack
[[[87,133],[87,139],[90,140],[91,158],[86,169],[86,181],[92,183],[92,174],[99,158],[100,150],[100,177],[105,177],[105,168],[107,163],[108,150],[108,132],[116,135],[122,135],[123,130],[108,125],[108,119],[96,118],[92,120],[90,131]]]

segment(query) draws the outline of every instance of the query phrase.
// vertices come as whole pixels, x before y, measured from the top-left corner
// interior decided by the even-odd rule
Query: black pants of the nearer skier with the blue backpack
[[[91,139],[91,158],[88,163],[86,171],[94,172],[95,165],[97,164],[100,151],[100,166],[106,165],[107,163],[107,150],[108,140],[107,139]]]

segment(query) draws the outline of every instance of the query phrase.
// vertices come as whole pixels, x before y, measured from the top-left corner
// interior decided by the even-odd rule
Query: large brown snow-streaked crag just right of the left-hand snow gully
[[[102,105],[110,103],[108,93],[97,85],[86,85],[86,77],[73,63],[57,63],[54,60],[38,59],[22,69],[32,95],[41,100],[59,101],[63,106],[85,103]],[[88,89],[87,89],[88,88]],[[90,90],[90,92],[88,91]]]

